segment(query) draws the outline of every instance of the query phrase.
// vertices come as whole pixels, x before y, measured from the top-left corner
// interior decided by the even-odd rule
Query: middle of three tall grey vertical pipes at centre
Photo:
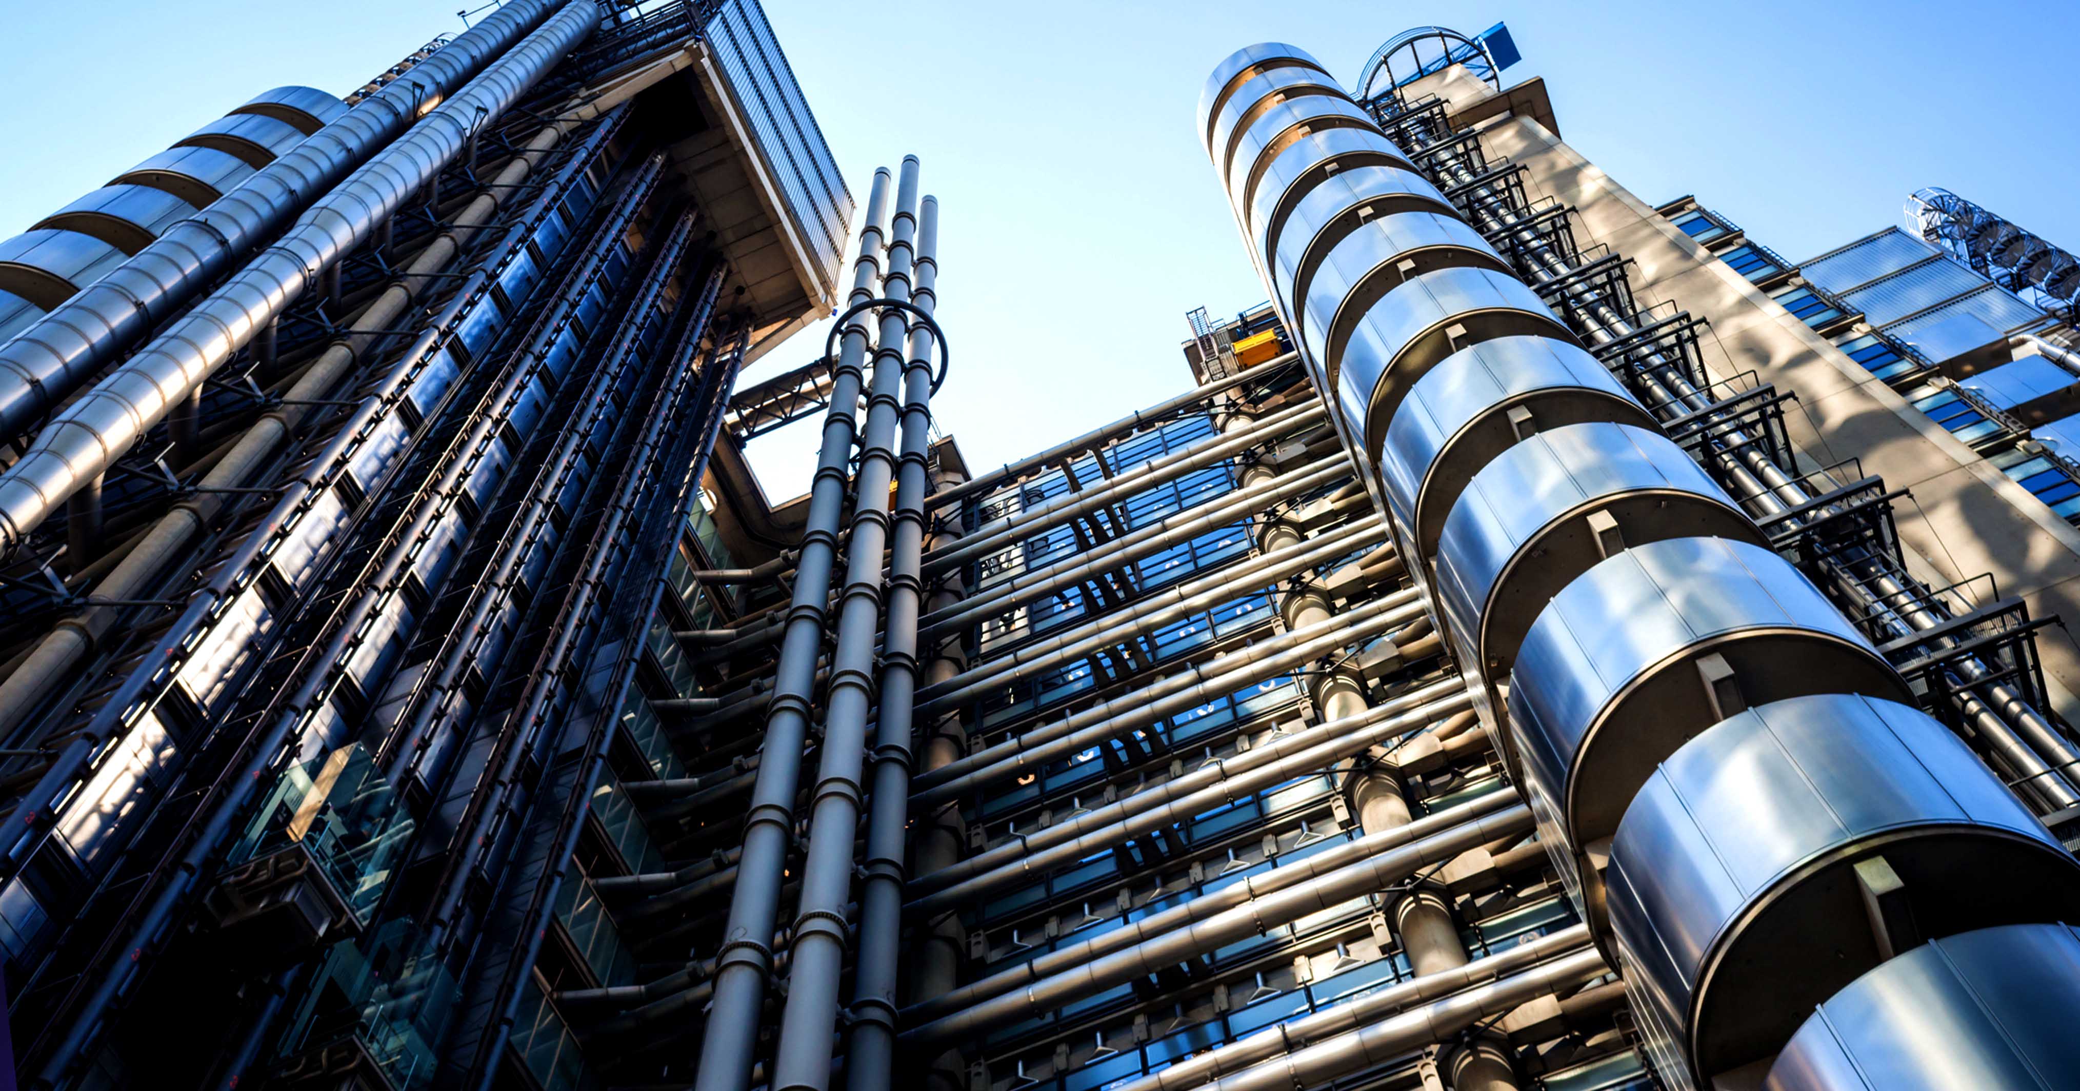
[[[917,235],[917,156],[903,158],[896,214],[888,239],[882,295],[909,301]],[[853,534],[847,542],[844,592],[838,596],[838,650],[830,659],[830,707],[824,752],[809,804],[809,858],[801,873],[801,904],[788,966],[786,1010],[774,1087],[824,1091],[830,1085],[832,1027],[838,1018],[838,977],[844,970],[844,906],[853,889],[853,842],[859,835],[859,773],[867,750],[867,709],[874,696],[874,644],[882,621],[882,551],[888,542],[888,484],[901,403],[903,341],[909,316],[888,308],[874,351],[867,426],[853,490]],[[915,640],[915,626],[911,626]],[[743,881],[743,879],[738,879]]]

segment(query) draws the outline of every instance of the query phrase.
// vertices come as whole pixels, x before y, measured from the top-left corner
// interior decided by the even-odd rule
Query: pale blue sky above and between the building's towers
[[[0,237],[281,83],[347,91],[460,29],[456,0],[4,0]],[[865,197],[924,158],[942,202],[938,418],[994,465],[1179,391],[1196,305],[1263,299],[1192,133],[1206,71],[1279,39],[1344,79],[1385,37],[1508,21],[1562,137],[1664,202],[1697,193],[1787,258],[1903,222],[1943,185],[2080,249],[2057,48],[2080,4],[1194,2],[838,4],[768,15]],[[811,343],[813,339],[813,343]],[[822,330],[751,378],[809,360]],[[815,434],[757,445],[774,495]]]

